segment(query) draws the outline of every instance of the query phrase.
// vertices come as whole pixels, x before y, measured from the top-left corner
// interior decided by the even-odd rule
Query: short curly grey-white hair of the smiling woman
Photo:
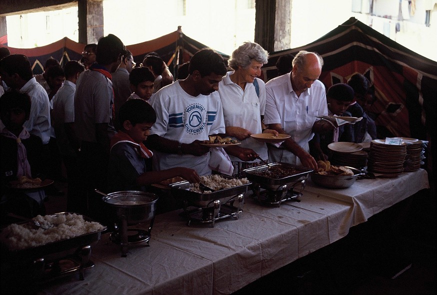
[[[247,68],[252,59],[262,64],[267,63],[268,53],[258,43],[244,42],[238,48],[233,50],[232,56],[228,60],[228,65],[232,69],[237,69],[238,66]]]

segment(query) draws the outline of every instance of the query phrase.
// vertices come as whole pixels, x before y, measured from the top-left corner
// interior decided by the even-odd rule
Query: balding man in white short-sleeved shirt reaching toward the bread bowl
[[[265,83],[264,123],[279,133],[289,134],[279,146],[268,145],[268,159],[317,169],[309,154],[308,141],[314,132],[326,132],[333,126],[316,115],[327,115],[325,87],[318,80],[323,59],[315,52],[299,51],[289,73]]]

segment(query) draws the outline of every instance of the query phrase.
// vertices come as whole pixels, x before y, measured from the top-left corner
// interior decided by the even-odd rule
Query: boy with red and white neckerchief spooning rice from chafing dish
[[[127,100],[120,107],[119,119],[121,129],[112,137],[110,144],[109,191],[144,191],[146,185],[176,176],[189,182],[200,181],[197,172],[190,168],[146,169],[145,160],[152,156],[152,152],[142,142],[147,139],[150,127],[156,121],[156,113],[149,103],[139,98]]]

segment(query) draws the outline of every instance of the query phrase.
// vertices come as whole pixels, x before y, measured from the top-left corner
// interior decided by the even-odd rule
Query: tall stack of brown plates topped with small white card
[[[406,156],[406,143],[385,144],[383,139],[374,139],[370,143],[367,170],[373,173],[397,176],[403,172]]]

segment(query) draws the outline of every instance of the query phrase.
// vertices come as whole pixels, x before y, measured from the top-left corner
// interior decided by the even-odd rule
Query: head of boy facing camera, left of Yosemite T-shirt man
[[[154,75],[148,67],[135,67],[129,74],[130,90],[132,94],[127,100],[141,98],[148,102],[153,94]]]

